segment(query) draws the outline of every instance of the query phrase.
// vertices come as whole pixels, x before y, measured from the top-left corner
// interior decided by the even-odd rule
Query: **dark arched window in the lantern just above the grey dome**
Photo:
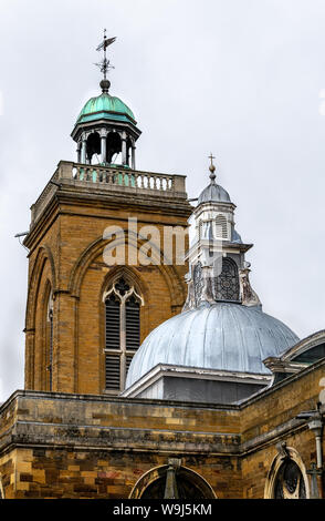
[[[214,279],[217,300],[239,302],[239,275],[234,260],[222,258],[221,274]]]

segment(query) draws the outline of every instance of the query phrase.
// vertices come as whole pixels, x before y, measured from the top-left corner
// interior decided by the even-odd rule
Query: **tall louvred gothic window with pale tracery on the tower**
[[[105,388],[122,391],[134,354],[140,345],[143,298],[124,277],[105,294]]]

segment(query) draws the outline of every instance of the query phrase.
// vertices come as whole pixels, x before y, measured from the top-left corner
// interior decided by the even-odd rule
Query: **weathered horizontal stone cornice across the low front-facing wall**
[[[132,427],[103,427],[69,423],[17,421],[6,432],[3,445],[44,446],[96,450],[141,450],[231,454],[239,452],[240,437],[235,433],[205,431],[145,429]]]

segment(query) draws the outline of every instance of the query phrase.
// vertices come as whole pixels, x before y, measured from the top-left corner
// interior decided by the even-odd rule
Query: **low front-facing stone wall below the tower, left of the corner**
[[[127,498],[170,457],[219,498],[241,497],[235,408],[22,391],[12,403],[0,451],[7,498]]]

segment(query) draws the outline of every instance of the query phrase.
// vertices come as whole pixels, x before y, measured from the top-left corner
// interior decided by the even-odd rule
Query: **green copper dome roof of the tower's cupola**
[[[105,92],[91,98],[81,111],[77,123],[86,123],[95,120],[127,121],[136,124],[134,113],[119,98]]]

